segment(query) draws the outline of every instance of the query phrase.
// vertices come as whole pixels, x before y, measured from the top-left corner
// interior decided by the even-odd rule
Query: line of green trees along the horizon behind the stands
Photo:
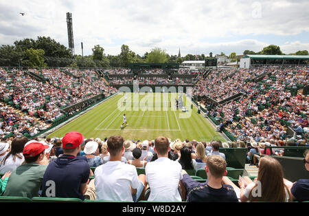
[[[260,52],[244,50],[246,54],[282,55],[280,47],[269,45]],[[223,52],[219,55],[226,56]],[[299,50],[293,55],[308,55],[307,50]],[[236,52],[229,56],[231,61],[237,61]],[[122,45],[118,55],[104,53],[104,48],[95,45],[92,54],[81,56],[71,54],[65,45],[61,45],[54,39],[46,36],[38,36],[34,39],[15,41],[14,45],[1,45],[0,66],[5,67],[128,67],[129,63],[179,63],[183,61],[203,61],[209,58],[205,54],[187,54],[185,56],[170,55],[165,50],[155,47],[143,56],[135,54],[128,45]]]

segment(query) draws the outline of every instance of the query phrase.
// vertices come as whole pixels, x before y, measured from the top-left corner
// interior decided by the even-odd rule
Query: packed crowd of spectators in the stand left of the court
[[[26,74],[25,71],[0,69],[0,100],[14,108],[14,111],[10,109],[10,113],[7,113],[7,116],[8,114],[14,116],[14,122],[6,120],[6,118],[6,121],[3,121],[4,118],[1,118],[1,125],[3,125],[1,132],[4,135],[14,133],[14,136],[20,136],[21,133],[28,133],[30,136],[34,136],[39,131],[46,129],[46,126],[52,124],[57,118],[65,115],[60,109],[98,94],[103,93],[105,96],[109,96],[117,91],[117,89],[106,85],[104,80],[98,78],[93,71],[69,71],[73,75],[58,69],[42,69],[41,71],[30,69],[29,71],[38,74],[47,81],[38,81]],[[77,109],[70,110],[68,114],[73,114],[74,111],[87,105],[89,102],[84,102]],[[2,110],[8,109],[3,105],[0,108]],[[16,113],[17,110],[27,116]],[[40,123],[40,125],[33,122],[34,117],[42,120],[45,124]],[[7,126],[12,123],[16,127]],[[27,127],[29,124],[32,127]]]

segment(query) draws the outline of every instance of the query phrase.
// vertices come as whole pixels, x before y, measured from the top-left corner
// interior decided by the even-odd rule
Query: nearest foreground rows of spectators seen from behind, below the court
[[[172,141],[161,136],[143,141],[124,140],[121,136],[87,139],[77,131],[63,138],[29,140],[22,136],[2,140],[0,195],[115,202],[309,200],[308,180],[293,183],[284,179],[282,166],[269,156],[259,160],[257,180],[262,182],[262,193],[253,196],[253,188],[258,184],[255,180],[243,176],[236,185],[225,176],[227,161],[218,152],[220,147],[244,146],[242,141],[234,144],[215,140]],[[252,144],[251,149],[255,147]],[[309,171],[309,151],[304,155]],[[187,173],[199,169],[194,163],[203,164],[199,167],[207,173],[206,182],[197,182]],[[137,169],[144,169],[145,174],[138,175]]]

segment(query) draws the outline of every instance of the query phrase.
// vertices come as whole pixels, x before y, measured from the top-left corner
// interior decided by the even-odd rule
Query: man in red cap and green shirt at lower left
[[[41,188],[48,164],[47,160],[44,160],[45,149],[48,148],[47,144],[34,140],[25,144],[23,149],[25,164],[17,166],[12,171],[3,196],[38,197],[38,191]]]

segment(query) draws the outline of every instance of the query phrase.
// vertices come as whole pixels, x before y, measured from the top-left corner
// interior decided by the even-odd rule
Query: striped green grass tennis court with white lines
[[[187,111],[176,109],[177,93],[119,93],[98,107],[69,122],[48,137],[63,137],[69,131],[79,131],[86,138],[106,138],[120,135],[130,140],[152,140],[166,136],[172,140],[210,141],[225,139],[214,130],[211,123],[191,108],[191,100],[183,94]],[[128,125],[122,129],[123,114]]]

